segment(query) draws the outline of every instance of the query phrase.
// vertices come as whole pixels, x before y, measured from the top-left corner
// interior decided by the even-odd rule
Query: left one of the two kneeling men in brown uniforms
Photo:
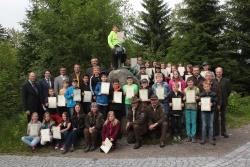
[[[132,99],[132,107],[127,116],[127,141],[129,144],[134,143],[134,149],[142,146],[143,135],[147,132],[148,115],[146,107],[144,107],[137,97]]]

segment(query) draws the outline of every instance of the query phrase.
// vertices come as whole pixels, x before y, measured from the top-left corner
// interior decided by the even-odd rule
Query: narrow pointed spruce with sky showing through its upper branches
[[[146,11],[140,12],[141,20],[135,25],[135,40],[154,59],[155,55],[166,56],[172,36],[170,9],[163,0],[143,0],[142,6]]]

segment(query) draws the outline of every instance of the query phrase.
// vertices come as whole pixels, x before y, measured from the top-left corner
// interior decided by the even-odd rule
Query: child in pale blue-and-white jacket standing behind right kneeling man
[[[163,104],[164,106],[164,111],[168,114],[169,113],[169,109],[168,109],[168,100],[167,97],[169,95],[170,89],[169,86],[166,82],[163,81],[163,75],[161,73],[156,73],[156,83],[154,83],[152,85],[152,90],[154,95],[158,96],[157,93],[157,89],[158,88],[163,88],[164,90],[164,97],[158,97],[160,103]]]

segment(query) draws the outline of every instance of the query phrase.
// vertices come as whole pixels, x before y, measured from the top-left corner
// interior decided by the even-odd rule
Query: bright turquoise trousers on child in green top
[[[185,118],[187,136],[193,138],[196,135],[197,110],[185,109]]]

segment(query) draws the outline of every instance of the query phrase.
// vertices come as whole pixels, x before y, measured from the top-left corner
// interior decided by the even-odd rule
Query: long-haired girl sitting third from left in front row
[[[69,116],[67,112],[64,112],[62,114],[62,122],[58,125],[60,127],[60,132],[61,132],[61,139],[57,140],[57,144],[55,146],[55,150],[59,149],[61,151],[64,151],[65,147],[65,141],[68,139],[70,131],[71,131],[71,122],[69,120]]]

